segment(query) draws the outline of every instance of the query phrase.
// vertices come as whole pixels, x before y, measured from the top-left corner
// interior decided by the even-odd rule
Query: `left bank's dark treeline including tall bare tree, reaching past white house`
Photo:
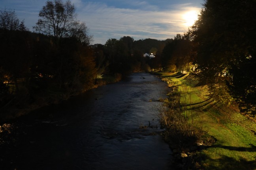
[[[2,120],[119,81],[131,72],[160,67],[159,57],[150,59],[143,54],[156,54],[166,41],[121,37],[91,45],[87,26],[75,16],[70,1],[47,1],[36,32],[31,32],[15,11],[0,10]]]

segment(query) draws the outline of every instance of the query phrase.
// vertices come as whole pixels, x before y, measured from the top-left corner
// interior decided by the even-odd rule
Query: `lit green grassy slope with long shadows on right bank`
[[[241,115],[235,104],[220,105],[207,98],[207,87],[198,86],[191,76],[158,73],[169,87],[178,87],[181,105],[193,115],[194,123],[215,139],[210,146],[201,143],[197,151],[183,151],[194,169],[256,169],[256,122]],[[190,116],[191,121],[191,116]],[[200,142],[198,141],[198,144]],[[201,145],[200,144],[200,145]],[[188,158],[187,158],[188,159]],[[183,167],[188,166],[183,162]],[[191,164],[190,164],[191,165]],[[190,166],[191,167],[191,166]]]

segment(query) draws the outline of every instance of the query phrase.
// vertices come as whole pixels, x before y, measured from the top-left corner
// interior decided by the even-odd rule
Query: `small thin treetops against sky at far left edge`
[[[19,30],[19,19],[14,10],[0,10],[0,28],[11,31]]]

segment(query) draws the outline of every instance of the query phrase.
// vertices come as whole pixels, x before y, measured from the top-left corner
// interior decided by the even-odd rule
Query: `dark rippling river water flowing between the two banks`
[[[134,73],[124,81],[40,109],[33,113],[36,116],[4,124],[0,132],[7,131],[12,139],[1,138],[10,146],[0,153],[0,168],[174,169],[158,122],[158,99],[166,98],[167,92],[166,83],[156,76]]]

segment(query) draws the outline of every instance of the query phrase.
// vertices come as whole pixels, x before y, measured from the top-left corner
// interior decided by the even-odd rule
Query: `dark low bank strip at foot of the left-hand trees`
[[[8,104],[0,108],[0,124],[27,115],[36,109],[45,106],[58,104],[73,96],[77,96],[90,89],[97,88],[102,85],[116,83],[122,78],[121,74],[105,74],[95,81],[94,84],[87,86],[83,91],[74,91],[72,89],[50,89],[38,94],[32,95],[13,95]]]

